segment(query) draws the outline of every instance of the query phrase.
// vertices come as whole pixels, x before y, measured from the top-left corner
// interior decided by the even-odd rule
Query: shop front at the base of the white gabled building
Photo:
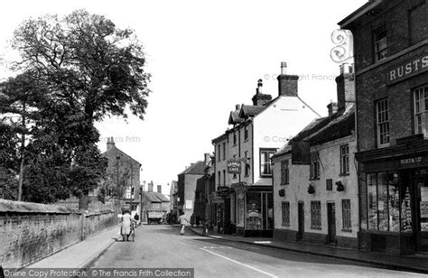
[[[272,188],[236,183],[232,185],[236,205],[237,235],[273,236],[274,199]]]

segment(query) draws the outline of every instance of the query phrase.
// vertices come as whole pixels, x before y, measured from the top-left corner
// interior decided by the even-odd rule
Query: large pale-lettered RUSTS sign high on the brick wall
[[[421,56],[408,60],[388,70],[387,83],[392,85],[401,80],[410,78],[416,74],[428,70],[428,54],[424,53]]]

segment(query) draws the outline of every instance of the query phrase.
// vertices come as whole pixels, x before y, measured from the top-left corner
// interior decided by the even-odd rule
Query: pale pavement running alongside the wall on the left
[[[90,236],[77,244],[69,246],[25,268],[75,268],[83,270],[102,255],[109,246],[122,236],[120,226],[108,228],[94,236]]]

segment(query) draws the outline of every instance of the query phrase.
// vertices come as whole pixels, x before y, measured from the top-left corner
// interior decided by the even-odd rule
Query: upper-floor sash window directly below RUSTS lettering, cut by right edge
[[[428,86],[414,90],[414,134],[428,137]]]

